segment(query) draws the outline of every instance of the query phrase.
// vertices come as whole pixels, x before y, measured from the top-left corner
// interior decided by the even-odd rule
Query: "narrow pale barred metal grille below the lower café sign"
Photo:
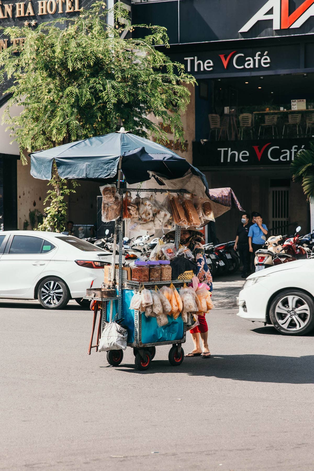
[[[270,227],[273,234],[287,234],[289,226],[289,187],[270,188]]]

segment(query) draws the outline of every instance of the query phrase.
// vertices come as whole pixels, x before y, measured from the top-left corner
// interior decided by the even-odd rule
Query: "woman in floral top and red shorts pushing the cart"
[[[170,235],[174,235],[173,231],[170,231],[166,237],[170,238]],[[196,276],[199,279],[200,283],[207,284],[209,286],[209,291],[212,291],[213,280],[209,268],[206,262],[205,251],[201,242],[203,241],[203,233],[194,228],[182,229],[180,243],[188,247],[193,253],[195,263],[197,265]],[[198,317],[200,325],[194,327],[190,330],[192,335],[192,340],[194,343],[194,349],[185,355],[186,357],[203,357],[209,358],[210,352],[208,348],[208,325],[205,318],[205,313],[203,316]],[[202,342],[202,349],[200,345],[200,336]]]

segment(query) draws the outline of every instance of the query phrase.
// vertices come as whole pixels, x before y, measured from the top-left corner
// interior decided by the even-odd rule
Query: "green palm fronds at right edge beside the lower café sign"
[[[298,152],[290,168],[293,180],[302,185],[306,198],[314,202],[314,143],[310,142],[310,148]]]

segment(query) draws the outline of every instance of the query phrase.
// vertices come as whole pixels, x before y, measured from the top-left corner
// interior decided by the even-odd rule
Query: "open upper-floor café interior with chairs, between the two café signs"
[[[313,137],[313,90],[314,73],[199,81],[196,140]]]

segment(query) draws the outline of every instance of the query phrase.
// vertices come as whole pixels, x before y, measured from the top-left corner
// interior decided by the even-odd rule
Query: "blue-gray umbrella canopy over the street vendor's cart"
[[[33,152],[30,156],[31,175],[42,180],[51,179],[55,160],[61,178],[113,181],[122,157],[121,171],[130,184],[150,179],[148,171],[171,179],[191,169],[207,187],[205,176],[184,158],[156,142],[123,131]]]

